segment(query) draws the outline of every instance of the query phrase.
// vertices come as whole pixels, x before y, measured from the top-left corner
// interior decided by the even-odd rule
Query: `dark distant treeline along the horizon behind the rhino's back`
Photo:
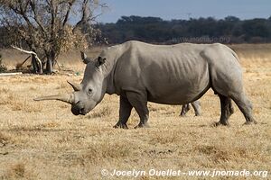
[[[271,42],[271,16],[268,19],[240,20],[234,16],[164,21],[159,17],[122,16],[117,23],[99,23],[109,44],[126,40],[156,43],[266,43]]]

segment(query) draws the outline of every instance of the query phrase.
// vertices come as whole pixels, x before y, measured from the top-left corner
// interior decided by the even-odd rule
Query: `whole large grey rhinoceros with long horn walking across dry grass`
[[[36,98],[71,104],[71,112],[85,115],[105,94],[120,96],[119,120],[115,128],[127,128],[134,107],[140,121],[135,128],[149,127],[147,102],[185,104],[199,99],[210,88],[220,97],[220,121],[228,125],[233,100],[246,119],[256,123],[252,104],[244,93],[238,56],[220,43],[153,45],[131,40],[104,49],[89,59],[82,82],[72,84],[74,92]]]

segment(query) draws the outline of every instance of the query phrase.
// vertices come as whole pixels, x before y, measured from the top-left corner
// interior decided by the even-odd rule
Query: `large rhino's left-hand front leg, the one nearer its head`
[[[128,129],[126,122],[128,121],[133,106],[126,97],[120,96],[119,98],[119,120],[114,128]]]

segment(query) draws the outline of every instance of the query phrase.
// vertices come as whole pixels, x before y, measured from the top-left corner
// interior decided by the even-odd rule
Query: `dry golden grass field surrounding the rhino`
[[[244,70],[246,92],[257,125],[243,125],[235,106],[229,127],[213,127],[220,119],[219,98],[210,90],[201,98],[202,116],[191,110],[179,117],[180,106],[149,103],[151,128],[136,129],[135,111],[129,130],[116,130],[117,95],[106,95],[86,116],[74,116],[70,105],[34,102],[44,94],[70,93],[66,80],[80,82],[84,65],[79,52],[61,55],[71,71],[53,76],[0,76],[0,179],[116,179],[101,170],[243,170],[268,171],[271,179],[271,44],[232,45]],[[89,50],[95,57],[100,49]],[[27,56],[2,49],[14,68]],[[77,74],[77,75],[75,75]],[[209,179],[210,176],[140,176],[137,179]],[[217,176],[211,179],[231,179]],[[118,179],[132,179],[119,176]]]

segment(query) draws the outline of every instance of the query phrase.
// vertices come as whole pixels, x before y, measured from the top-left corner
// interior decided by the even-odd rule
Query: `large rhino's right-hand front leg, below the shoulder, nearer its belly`
[[[148,128],[147,123],[149,119],[149,110],[147,108],[147,97],[146,94],[138,94],[134,92],[126,93],[128,101],[135,108],[135,111],[138,113],[140,121],[136,128]]]

